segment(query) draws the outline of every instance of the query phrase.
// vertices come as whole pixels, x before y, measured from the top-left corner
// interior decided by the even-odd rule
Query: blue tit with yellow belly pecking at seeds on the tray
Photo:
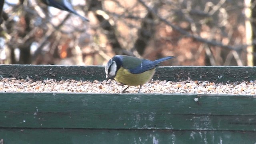
[[[146,60],[134,56],[116,55],[111,58],[106,67],[106,78],[114,77],[120,84],[141,86],[152,79],[155,69],[161,66],[160,62],[174,58],[168,56],[158,60]],[[127,87],[127,88],[128,88]],[[125,92],[125,88],[122,92]],[[138,93],[140,93],[140,89]]]

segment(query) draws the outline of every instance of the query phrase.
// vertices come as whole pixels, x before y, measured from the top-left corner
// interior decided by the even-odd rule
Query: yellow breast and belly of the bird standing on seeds
[[[140,74],[132,74],[128,70],[121,67],[116,72],[116,76],[114,77],[114,79],[121,84],[126,84],[128,86],[138,86],[143,85],[150,79],[152,79],[154,73],[155,68],[146,72],[142,72]]]

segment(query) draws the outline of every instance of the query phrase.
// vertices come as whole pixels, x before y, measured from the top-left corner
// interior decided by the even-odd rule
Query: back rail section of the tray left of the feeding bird
[[[55,65],[0,65],[0,76],[7,78],[31,78],[44,80],[104,80],[103,66],[55,66]]]

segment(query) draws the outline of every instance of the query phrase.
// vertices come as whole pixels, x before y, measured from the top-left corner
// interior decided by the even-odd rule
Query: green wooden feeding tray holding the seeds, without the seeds
[[[0,65],[2,78],[105,80],[102,66]],[[255,81],[255,67],[157,68],[155,80]],[[0,89],[5,86],[4,82]],[[2,139],[2,140],[1,140]],[[254,144],[256,97],[0,92],[0,144]]]

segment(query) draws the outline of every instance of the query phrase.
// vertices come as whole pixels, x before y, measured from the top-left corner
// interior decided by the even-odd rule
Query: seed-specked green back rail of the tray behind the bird
[[[104,66],[0,65],[0,76],[43,80],[105,80]],[[248,66],[171,66],[156,69],[154,80],[208,80],[228,82],[256,80],[256,67]]]

